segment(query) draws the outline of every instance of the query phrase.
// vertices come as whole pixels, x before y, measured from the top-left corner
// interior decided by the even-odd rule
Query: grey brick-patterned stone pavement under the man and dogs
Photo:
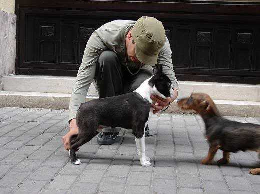
[[[110,146],[93,138],[78,152],[82,164],[71,165],[61,143],[67,117],[67,110],[0,108],[1,194],[260,194],[260,176],[248,174],[257,153],[232,154],[228,166],[200,164],[208,145],[198,115],[153,115],[150,134],[157,135],[145,139],[150,167],[140,166],[129,130]]]

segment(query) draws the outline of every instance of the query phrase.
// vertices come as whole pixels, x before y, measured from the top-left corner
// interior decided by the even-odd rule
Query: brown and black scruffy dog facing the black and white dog
[[[260,125],[221,117],[213,100],[204,93],[192,93],[190,97],[178,100],[178,106],[182,110],[195,110],[204,120],[209,152],[201,164],[210,164],[218,149],[223,150],[223,158],[217,161],[219,164],[229,163],[230,152],[240,150],[256,151],[260,158]],[[260,168],[251,169],[249,173],[260,175]]]

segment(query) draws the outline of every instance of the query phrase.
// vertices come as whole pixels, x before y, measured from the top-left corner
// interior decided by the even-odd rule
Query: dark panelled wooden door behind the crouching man
[[[76,76],[91,33],[114,19],[165,26],[178,80],[260,84],[260,4],[17,0],[16,74]]]

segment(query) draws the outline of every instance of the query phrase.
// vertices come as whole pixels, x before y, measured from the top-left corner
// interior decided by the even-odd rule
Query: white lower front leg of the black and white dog
[[[144,134],[143,134],[143,137],[141,137],[141,138],[135,137],[135,142],[136,142],[137,154],[139,156],[141,165],[142,166],[151,166],[151,163],[149,162],[150,158],[145,155]]]

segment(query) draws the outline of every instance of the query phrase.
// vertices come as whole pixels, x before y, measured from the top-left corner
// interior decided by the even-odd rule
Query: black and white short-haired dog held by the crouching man
[[[77,149],[90,141],[102,125],[132,129],[141,165],[150,166],[150,159],[145,155],[144,129],[152,114],[151,94],[162,98],[173,94],[171,81],[162,74],[162,67],[133,92],[82,103],[76,115],[79,133],[70,140],[71,163],[80,164]]]

